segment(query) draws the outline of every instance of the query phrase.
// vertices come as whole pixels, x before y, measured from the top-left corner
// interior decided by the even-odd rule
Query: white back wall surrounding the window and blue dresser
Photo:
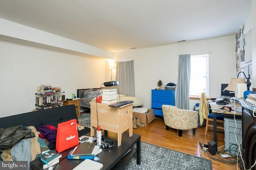
[[[158,80],[164,86],[177,84],[178,55],[209,53],[209,97],[220,96],[221,84],[229,83],[236,76],[235,36],[178,43],[147,49],[115,53],[115,61],[134,60],[135,95],[142,99],[144,107],[151,108],[151,89]],[[198,101],[199,102],[199,101]],[[190,104],[192,109],[194,101]]]

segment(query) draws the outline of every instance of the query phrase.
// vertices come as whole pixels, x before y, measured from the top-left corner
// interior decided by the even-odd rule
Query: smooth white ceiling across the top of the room
[[[0,18],[112,52],[234,35],[251,0],[0,0]]]

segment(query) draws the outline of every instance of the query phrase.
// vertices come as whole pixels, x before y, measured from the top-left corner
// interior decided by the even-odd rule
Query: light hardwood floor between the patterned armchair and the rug
[[[179,137],[176,129],[169,128],[169,131],[166,131],[164,120],[159,117],[146,127],[133,129],[133,133],[141,135],[141,141],[143,142],[210,159],[212,161],[213,170],[240,170],[239,164],[237,168],[237,164],[222,163],[208,158],[205,155],[199,142],[208,144],[209,141],[213,141],[213,131],[210,129],[206,136],[204,135],[204,131],[204,127],[198,127],[196,128],[196,135],[192,135],[192,129],[183,130],[182,137]],[[225,145],[224,132],[218,131],[218,147],[223,145]],[[225,148],[222,147],[218,150],[224,149]],[[218,157],[215,155],[214,158]]]

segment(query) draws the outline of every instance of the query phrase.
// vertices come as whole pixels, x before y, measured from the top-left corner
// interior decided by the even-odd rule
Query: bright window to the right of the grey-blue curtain
[[[209,96],[208,57],[208,54],[191,55],[190,96],[201,96],[202,92]]]

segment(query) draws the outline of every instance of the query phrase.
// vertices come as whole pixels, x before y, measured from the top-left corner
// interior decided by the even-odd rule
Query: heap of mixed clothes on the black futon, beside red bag
[[[57,128],[50,125],[0,128],[1,160],[31,162],[43,151],[55,149],[56,135]]]

